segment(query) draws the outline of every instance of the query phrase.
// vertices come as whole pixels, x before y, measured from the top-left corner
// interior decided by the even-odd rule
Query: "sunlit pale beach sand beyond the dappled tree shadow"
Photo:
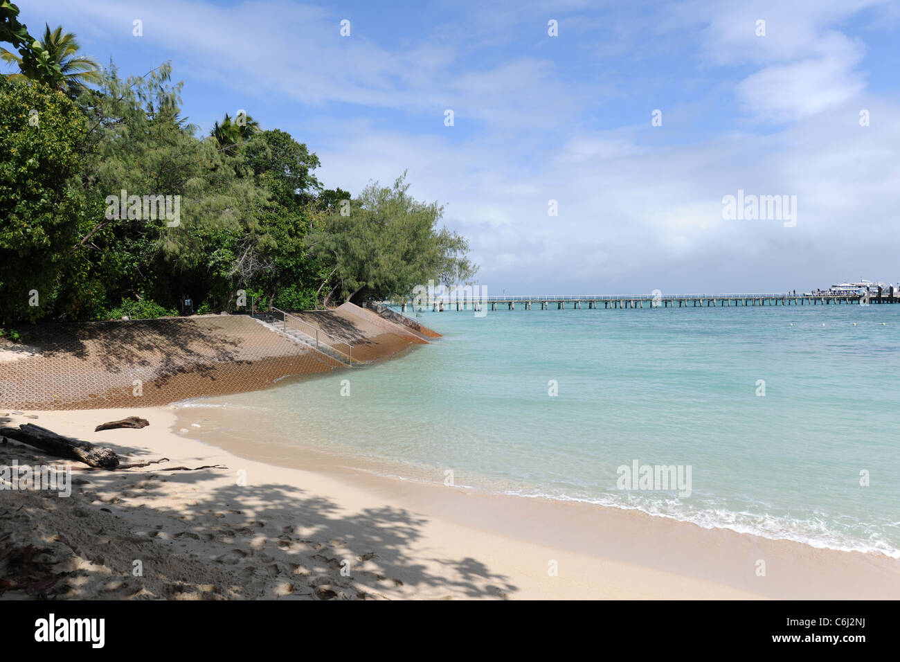
[[[196,535],[201,540],[192,537],[185,550],[196,557],[193,563],[205,570],[239,569],[253,578],[246,589],[240,580],[230,588],[220,587],[217,595],[311,597],[320,586],[330,586],[320,594],[330,591],[344,597],[356,592],[356,597],[425,599],[889,599],[900,591],[900,573],[896,572],[900,565],[884,555],[817,549],[590,503],[482,494],[365,471],[279,467],[243,458],[193,438],[193,432],[204,429],[191,422],[184,428],[186,419],[179,416],[184,410],[177,404],[141,408],[140,415],[150,421],[150,427],[143,430],[93,432],[96,423],[134,411],[23,412],[11,418],[14,423],[32,422],[24,416],[37,415],[33,422],[118,447],[129,461],[166,457],[173,466],[229,467],[173,472],[171,481],[156,485],[154,494],[148,495],[140,494],[136,485],[160,476],[155,467],[85,472],[92,483],[111,484],[106,489],[112,494],[89,494],[96,498],[82,507],[112,509],[131,527],[146,529],[152,522],[158,531],[172,536],[154,540],[168,546],[172,554],[184,553],[175,550],[178,536]],[[203,413],[209,417],[214,411],[205,408]],[[188,432],[179,432],[182,429]],[[214,438],[214,431],[211,434]],[[14,444],[3,448],[12,450]],[[25,447],[20,448],[27,454]],[[247,472],[243,490],[232,485],[231,475],[238,469]],[[116,480],[127,481],[131,475],[141,480],[125,491],[116,489]],[[11,493],[0,492],[0,496],[4,494]],[[173,508],[173,503],[180,507]],[[264,531],[243,527],[250,537],[243,544],[238,542],[240,536],[227,535],[229,531],[224,535],[212,531],[214,520],[208,521],[209,514],[200,509],[203,505],[209,511],[247,512],[248,503],[254,504],[258,511],[253,514],[254,521],[263,521]],[[311,519],[323,519],[324,524],[311,525]],[[184,521],[197,523],[176,533],[184,528]],[[311,555],[305,564],[295,564],[306,567],[314,576],[311,583],[319,584],[298,584],[295,577],[283,576],[286,570],[260,578],[265,567],[271,574],[271,567],[279,566],[279,553],[285,563],[302,556],[292,549],[294,540],[280,540],[290,535],[286,531],[302,529],[319,529],[305,532],[309,536],[306,544],[329,549],[329,553]],[[317,533],[321,534],[318,539]],[[146,531],[138,535],[146,535]],[[346,578],[339,574],[340,565],[334,563],[341,558],[338,543],[354,548],[354,558],[365,558],[360,562],[360,567],[368,568],[360,571],[363,575]],[[259,549],[255,550],[254,544]],[[223,558],[237,560],[231,564]],[[766,564],[766,576],[756,575],[761,560]],[[558,575],[550,576],[548,567],[554,562]],[[322,583],[325,578],[328,581]],[[401,584],[391,585],[394,580]],[[220,581],[228,584],[234,578]],[[288,590],[285,582],[294,588]],[[314,597],[321,599],[319,594]]]

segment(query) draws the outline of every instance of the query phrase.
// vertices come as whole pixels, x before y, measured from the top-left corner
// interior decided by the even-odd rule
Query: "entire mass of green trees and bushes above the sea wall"
[[[466,241],[403,177],[352,200],[323,190],[305,144],[249,116],[198,138],[167,63],[123,80],[61,27],[35,42],[17,15],[0,0],[0,41],[20,53],[3,57],[22,72],[0,77],[0,323],[172,315],[183,294],[233,312],[239,290],[307,310],[473,275]],[[143,196],[177,199],[178,222]]]

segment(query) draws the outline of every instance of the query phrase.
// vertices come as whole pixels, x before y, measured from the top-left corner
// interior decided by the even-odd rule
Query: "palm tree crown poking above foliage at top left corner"
[[[93,59],[77,55],[80,46],[71,32],[62,32],[62,26],[50,32],[45,24],[44,35],[35,50],[44,51],[47,61],[58,68],[59,75],[48,78],[46,72],[36,68],[32,63],[23,61],[21,57],[4,48],[0,48],[0,59],[18,65],[22,73],[10,74],[10,80],[40,80],[54,89],[67,95],[77,96],[85,91],[86,84],[97,84],[102,80],[100,65]]]

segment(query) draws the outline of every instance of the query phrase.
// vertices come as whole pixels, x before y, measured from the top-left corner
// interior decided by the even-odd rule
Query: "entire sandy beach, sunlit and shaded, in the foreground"
[[[27,597],[29,586],[35,596],[75,599],[900,594],[897,562],[879,555],[338,467],[275,467],[193,440],[199,429],[178,416],[193,412],[172,405],[4,417],[4,424],[34,422],[102,441],[128,461],[168,460],[78,470],[81,482],[67,498],[0,491],[0,575],[22,583],[3,598]],[[150,425],[93,431],[132,414]],[[0,458],[47,463],[12,440]],[[172,467],[208,468],[164,470]],[[766,576],[756,575],[759,560]],[[135,561],[142,576],[133,573]]]

